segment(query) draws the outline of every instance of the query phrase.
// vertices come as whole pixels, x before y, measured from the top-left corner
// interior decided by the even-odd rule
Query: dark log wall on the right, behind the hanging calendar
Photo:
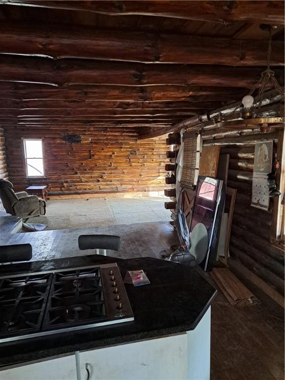
[[[231,258],[269,285],[272,294],[284,295],[284,250],[272,244],[270,236],[273,200],[270,200],[268,211],[250,206],[254,146],[255,142],[267,138],[274,140],[275,154],[277,132],[261,135],[258,131],[246,131],[244,136],[232,132],[231,136],[225,136],[208,131],[203,137],[203,146],[221,144],[221,154],[230,154],[228,186],[238,190],[231,230]]]

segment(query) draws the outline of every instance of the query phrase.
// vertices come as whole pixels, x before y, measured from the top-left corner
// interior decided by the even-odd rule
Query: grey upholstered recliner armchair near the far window
[[[0,198],[8,214],[19,218],[46,214],[46,201],[26,191],[14,192],[13,184],[0,179]]]

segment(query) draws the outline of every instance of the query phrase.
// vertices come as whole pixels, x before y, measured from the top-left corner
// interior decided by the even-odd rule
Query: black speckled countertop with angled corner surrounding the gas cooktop
[[[125,285],[134,322],[0,343],[0,366],[193,330],[217,292],[195,268],[150,257],[122,260],[90,255],[35,261],[2,265],[0,275],[108,262],[118,264],[122,278],[127,270],[143,269],[150,280],[149,285]]]

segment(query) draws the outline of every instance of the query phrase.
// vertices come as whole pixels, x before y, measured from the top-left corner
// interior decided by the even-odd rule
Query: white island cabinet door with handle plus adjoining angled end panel
[[[78,380],[209,380],[211,308],[192,331],[82,351]]]

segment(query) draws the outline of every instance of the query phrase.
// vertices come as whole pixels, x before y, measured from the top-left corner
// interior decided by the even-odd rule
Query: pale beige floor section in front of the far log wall
[[[46,224],[46,231],[168,222],[171,212],[164,208],[168,199],[161,196],[49,200],[46,215],[31,218],[29,222]]]

